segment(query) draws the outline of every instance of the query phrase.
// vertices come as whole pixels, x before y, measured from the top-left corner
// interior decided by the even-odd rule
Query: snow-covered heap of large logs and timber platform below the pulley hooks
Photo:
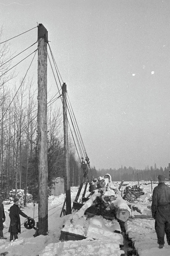
[[[84,177],[87,177],[83,196],[78,202],[83,188],[83,184],[80,184],[73,202],[72,214],[68,215],[68,219],[63,225],[60,240],[100,239],[102,236],[103,239],[107,239],[110,236],[118,236],[119,238],[114,238],[114,241],[119,241],[119,245],[123,244],[120,225],[131,214],[126,201],[118,195],[123,181],[119,188],[116,188],[110,174],[107,173],[104,177],[97,177],[90,182],[87,195],[86,188],[89,179],[86,169],[83,169]]]

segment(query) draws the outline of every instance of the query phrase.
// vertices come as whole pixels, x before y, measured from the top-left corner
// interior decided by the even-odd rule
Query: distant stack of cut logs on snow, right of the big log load
[[[123,199],[127,200],[128,202],[133,202],[137,200],[138,197],[144,195],[143,188],[140,188],[138,185],[130,185],[126,186],[123,192]]]

